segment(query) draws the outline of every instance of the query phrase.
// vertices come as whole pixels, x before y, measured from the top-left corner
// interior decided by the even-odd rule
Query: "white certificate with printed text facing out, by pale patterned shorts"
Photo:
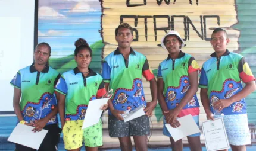
[[[205,147],[208,151],[229,149],[229,140],[224,126],[223,118],[215,118],[214,121],[202,122]]]

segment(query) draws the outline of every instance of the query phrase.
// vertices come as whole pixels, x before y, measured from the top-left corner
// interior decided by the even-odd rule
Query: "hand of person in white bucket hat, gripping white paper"
[[[180,110],[178,110],[177,108],[174,108],[173,110],[169,110],[169,113],[166,116],[166,122],[169,123],[174,128],[179,127],[180,123],[176,119],[179,113],[180,113]]]

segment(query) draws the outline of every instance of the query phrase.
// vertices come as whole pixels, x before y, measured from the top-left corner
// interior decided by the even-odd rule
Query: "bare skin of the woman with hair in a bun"
[[[92,61],[92,57],[90,56],[90,52],[88,49],[82,49],[77,53],[77,56],[74,57],[77,63],[77,68],[80,72],[83,72],[83,75],[86,77],[89,75],[89,65]],[[88,72],[88,73],[86,73]],[[58,107],[60,108],[60,118],[61,118],[61,128],[65,125],[65,95],[57,92],[58,97]],[[108,108],[108,104],[102,105],[101,110],[105,110]],[[69,151],[79,151],[81,147],[77,149],[72,149]],[[98,151],[98,147],[88,147],[85,146],[86,151]]]

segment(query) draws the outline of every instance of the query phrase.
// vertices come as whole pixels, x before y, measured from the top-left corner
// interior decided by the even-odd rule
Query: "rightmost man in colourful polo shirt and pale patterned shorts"
[[[224,114],[223,120],[233,151],[246,150],[251,143],[245,97],[256,89],[255,78],[240,54],[226,49],[227,33],[216,28],[211,35],[214,53],[202,65],[199,80],[201,101],[208,119]],[[245,83],[243,88],[242,82]]]

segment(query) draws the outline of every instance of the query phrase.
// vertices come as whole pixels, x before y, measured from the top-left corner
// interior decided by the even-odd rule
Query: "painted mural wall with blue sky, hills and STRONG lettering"
[[[90,68],[100,73],[101,60],[118,47],[115,28],[126,22],[134,28],[133,49],[146,55],[156,73],[158,64],[167,57],[160,40],[168,30],[180,33],[186,43],[183,52],[192,54],[201,66],[214,51],[211,32],[220,27],[229,35],[228,49],[245,56],[256,76],[256,22],[252,22],[256,21],[252,17],[255,7],[256,2],[242,0],[40,0],[38,43],[51,45],[50,65],[63,73],[76,66],[74,41],[85,38],[93,50]],[[149,83],[145,79],[143,85],[149,100]],[[256,92],[246,98],[252,134],[256,124],[254,99]],[[157,106],[151,117],[154,128],[163,127],[162,116]],[[200,120],[206,120],[202,107]],[[107,128],[107,113],[103,121]]]

